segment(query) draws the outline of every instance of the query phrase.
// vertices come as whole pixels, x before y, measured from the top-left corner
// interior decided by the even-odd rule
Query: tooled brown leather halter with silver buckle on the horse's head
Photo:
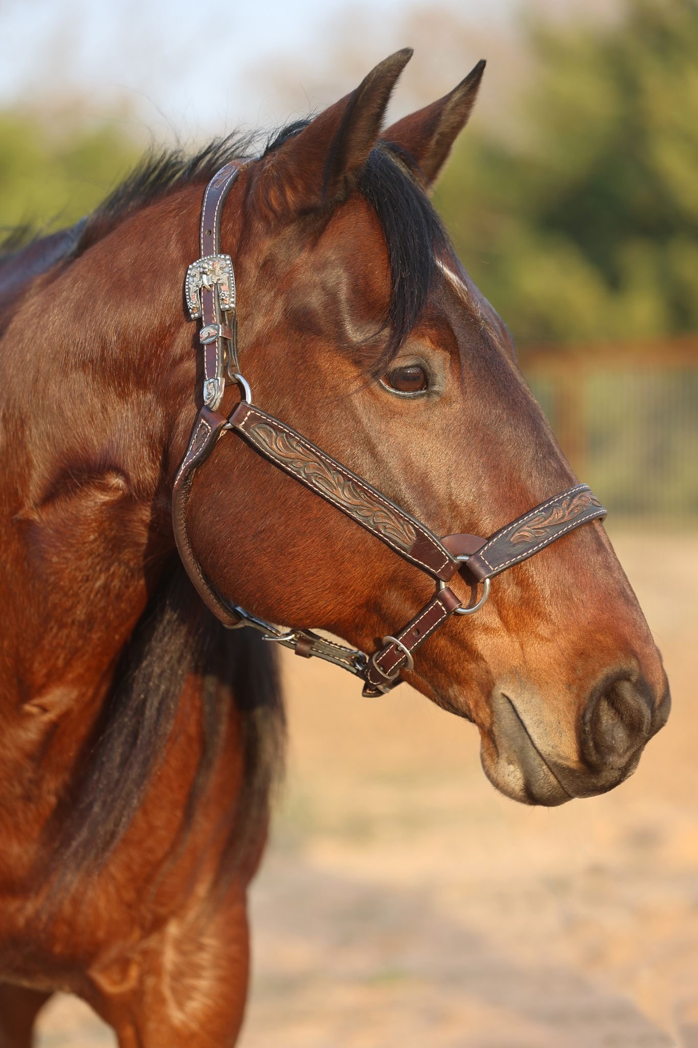
[[[186,272],[187,306],[192,318],[202,322],[199,340],[204,356],[204,406],[194,423],[173,489],[177,548],[202,601],[224,626],[251,626],[260,630],[265,639],[291,648],[296,655],[316,656],[341,665],[363,680],[364,695],[380,695],[400,683],[401,671],[411,670],[414,664],[414,651],[451,615],[472,615],[479,611],[490,594],[490,580],[494,575],[538,553],[572,528],[605,517],[606,510],[586,484],[578,484],[542,502],[487,540],[472,534],[438,539],[367,481],[285,422],[254,407],[238,361],[232,262],[228,255],[219,253],[223,202],[239,172],[239,163],[228,163],[206,187],[201,215],[201,258]],[[223,398],[226,372],[243,395],[227,419],[216,410]],[[284,632],[228,603],[206,577],[192,549],[186,506],[197,468],[226,432],[237,433],[279,470],[325,499],[434,581],[436,590],[429,603],[399,633],[383,637],[380,651],[368,657],[310,630]],[[471,582],[474,580],[482,585],[482,594],[471,608],[461,607],[458,597],[447,586],[464,568]]]

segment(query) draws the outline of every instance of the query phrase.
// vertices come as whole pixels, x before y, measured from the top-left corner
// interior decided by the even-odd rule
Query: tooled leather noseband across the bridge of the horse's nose
[[[495,531],[470,558],[468,571],[478,581],[492,578],[540,552],[580,524],[605,516],[606,510],[589,485],[577,484]]]

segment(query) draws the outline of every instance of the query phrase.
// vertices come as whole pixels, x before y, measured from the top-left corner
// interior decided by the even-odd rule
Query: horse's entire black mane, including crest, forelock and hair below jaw
[[[266,141],[262,155],[279,149],[307,124],[299,121],[282,129]],[[12,258],[21,266],[26,253],[32,275],[48,274],[51,267],[59,272],[151,202],[185,184],[203,187],[229,160],[256,155],[258,140],[255,134],[232,134],[194,155],[179,149],[151,152],[72,230],[28,243],[26,231],[16,236],[7,244]],[[398,147],[380,143],[371,151],[358,190],[378,216],[390,268],[392,290],[381,329],[388,332],[387,340],[374,353],[377,358],[369,369],[379,374],[418,322],[436,279],[438,258],[449,245],[419,171]],[[37,261],[42,244],[43,269]],[[0,266],[9,257],[0,255]],[[83,773],[58,813],[59,886],[70,889],[81,875],[98,870],[128,831],[162,759],[192,675],[201,681],[202,754],[180,838],[192,827],[197,803],[209,784],[218,741],[234,701],[241,713],[244,776],[242,792],[231,802],[224,850],[228,867],[234,865],[254,828],[267,817],[270,790],[283,764],[285,718],[273,655],[254,631],[225,630],[203,607],[181,565],[165,572],[165,582],[121,652]]]

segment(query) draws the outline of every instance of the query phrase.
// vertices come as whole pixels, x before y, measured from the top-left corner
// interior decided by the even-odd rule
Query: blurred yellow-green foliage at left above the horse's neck
[[[140,150],[117,125],[53,133],[30,113],[0,112],[0,227],[68,225],[92,211]]]

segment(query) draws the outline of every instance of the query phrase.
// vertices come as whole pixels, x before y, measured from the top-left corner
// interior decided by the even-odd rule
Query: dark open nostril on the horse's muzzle
[[[651,734],[652,699],[644,680],[607,678],[589,699],[582,720],[582,755],[591,767],[625,767]]]

